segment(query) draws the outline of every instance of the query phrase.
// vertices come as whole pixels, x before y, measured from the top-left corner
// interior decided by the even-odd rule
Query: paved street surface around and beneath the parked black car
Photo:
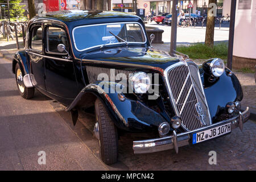
[[[168,150],[135,155],[132,143],[136,138],[121,137],[118,163],[107,166],[100,160],[92,134],[92,113],[80,113],[74,127],[65,107],[38,91],[31,100],[24,100],[16,88],[11,61],[2,57],[0,78],[0,170],[256,169],[254,121],[245,123],[243,133],[237,128],[226,137],[181,147],[179,154]],[[38,163],[39,151],[46,152],[46,164]],[[208,163],[209,151],[217,152],[216,165]]]

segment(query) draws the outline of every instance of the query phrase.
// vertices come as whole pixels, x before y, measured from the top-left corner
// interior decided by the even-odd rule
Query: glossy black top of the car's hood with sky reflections
[[[166,69],[168,66],[180,61],[176,57],[164,55],[164,53],[152,48],[112,48],[102,51],[94,51],[81,55],[83,60],[92,60],[93,63],[101,63],[104,61],[106,64],[118,64],[118,65],[133,65],[145,68],[159,67]]]

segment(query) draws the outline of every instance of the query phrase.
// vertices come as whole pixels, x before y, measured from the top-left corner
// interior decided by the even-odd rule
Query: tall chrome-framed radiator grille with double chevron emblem
[[[197,65],[178,64],[167,73],[174,109],[187,130],[195,130],[211,122],[198,71]]]

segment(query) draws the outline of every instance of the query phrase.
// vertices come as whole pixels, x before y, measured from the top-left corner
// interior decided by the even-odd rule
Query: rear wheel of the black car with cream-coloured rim
[[[23,73],[22,70],[19,67],[19,64],[16,64],[15,67],[15,78],[16,78],[16,84],[19,90],[20,96],[23,98],[29,99],[34,96],[35,88],[27,88],[23,83]]]

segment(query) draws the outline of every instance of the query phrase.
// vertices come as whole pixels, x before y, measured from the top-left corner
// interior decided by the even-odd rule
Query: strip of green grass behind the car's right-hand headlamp
[[[178,46],[177,51],[188,55],[191,59],[210,59],[212,57],[228,59],[228,43],[218,43],[213,47],[196,43],[191,46]]]

